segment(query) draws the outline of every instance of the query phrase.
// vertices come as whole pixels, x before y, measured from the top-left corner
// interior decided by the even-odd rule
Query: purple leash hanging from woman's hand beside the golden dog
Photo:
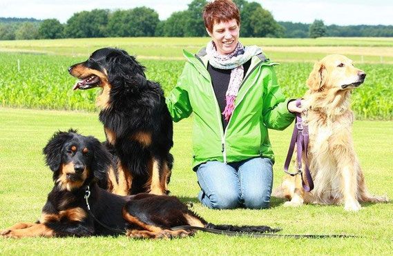
[[[300,107],[300,105],[301,105],[300,99],[297,99],[296,106]],[[297,147],[297,158],[296,158],[297,166],[296,166],[296,168],[298,169],[298,172],[297,173],[289,173],[288,168],[289,168],[289,164],[292,159],[292,155],[294,155],[295,144]],[[296,124],[294,127],[294,132],[292,133],[291,144],[289,144],[287,159],[285,159],[284,172],[291,175],[291,176],[295,176],[295,175],[300,174],[300,176],[302,177],[302,186],[306,192],[310,192],[314,188],[314,182],[312,181],[311,173],[309,172],[309,166],[307,164],[308,144],[309,144],[308,128],[307,128],[307,126],[303,126],[303,124],[302,124],[302,115],[300,113],[296,112]],[[305,184],[305,181],[303,179],[303,172],[302,172],[303,152],[305,154],[305,176],[307,179],[307,184],[309,186],[307,186]]]

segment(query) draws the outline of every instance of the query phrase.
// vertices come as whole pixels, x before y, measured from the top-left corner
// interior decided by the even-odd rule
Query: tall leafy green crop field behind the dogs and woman
[[[19,60],[19,72],[18,72]],[[95,111],[95,97],[100,92],[73,91],[77,81],[67,68],[85,57],[0,53],[0,106],[58,110]],[[148,79],[159,81],[166,94],[175,86],[184,59],[138,59],[146,66]],[[276,66],[278,83],[287,97],[302,97],[312,63],[283,62]],[[360,63],[367,72],[365,83],[354,90],[352,109],[358,119],[393,119],[393,65]]]

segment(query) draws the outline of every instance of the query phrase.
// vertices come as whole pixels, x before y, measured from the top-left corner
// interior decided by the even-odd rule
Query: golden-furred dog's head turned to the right
[[[314,64],[307,86],[314,92],[330,88],[354,89],[365,81],[365,76],[363,70],[354,67],[351,59],[343,55],[328,55]]]

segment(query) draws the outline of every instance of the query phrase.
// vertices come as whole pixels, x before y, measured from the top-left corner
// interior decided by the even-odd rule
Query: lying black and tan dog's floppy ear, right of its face
[[[106,173],[112,164],[112,155],[98,139],[91,136],[88,138],[90,139],[90,147],[93,149],[93,160],[90,171],[93,172],[96,179],[105,179]]]

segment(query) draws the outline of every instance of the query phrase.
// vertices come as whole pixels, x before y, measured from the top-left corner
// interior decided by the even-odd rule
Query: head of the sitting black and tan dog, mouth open
[[[87,90],[101,87],[108,97],[99,106],[107,106],[111,101],[109,95],[116,92],[137,92],[147,83],[144,66],[128,55],[125,50],[102,48],[84,62],[68,68],[70,75],[77,77],[74,90]]]

